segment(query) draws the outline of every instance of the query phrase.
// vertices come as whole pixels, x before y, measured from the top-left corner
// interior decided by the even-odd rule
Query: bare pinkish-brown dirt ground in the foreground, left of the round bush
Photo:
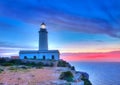
[[[51,67],[23,71],[5,70],[0,73],[0,85],[40,85],[40,83],[57,80],[59,75],[60,72]]]

